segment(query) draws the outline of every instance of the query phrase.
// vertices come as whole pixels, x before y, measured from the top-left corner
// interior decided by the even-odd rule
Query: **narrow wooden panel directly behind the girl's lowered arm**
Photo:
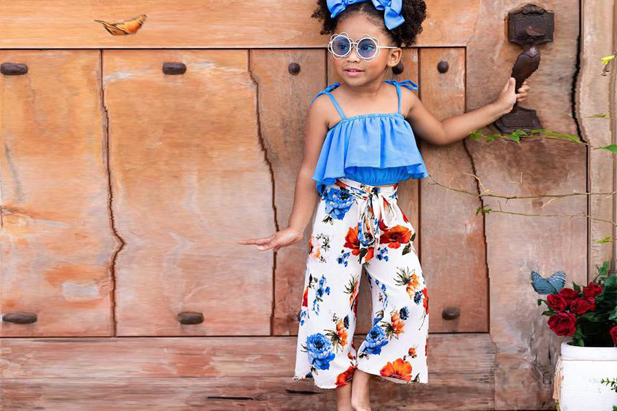
[[[326,87],[324,50],[252,50],[250,71],[258,86],[258,119],[260,135],[274,191],[272,209],[276,229],[289,223],[293,206],[295,179],[300,170],[304,146],[304,121],[311,99]],[[291,74],[290,64],[300,71]],[[314,183],[314,182],[313,182]],[[315,211],[317,204],[315,204]],[[315,212],[313,212],[313,218]],[[253,218],[261,218],[254,214]],[[298,312],[302,305],[304,269],[308,257],[312,222],[306,227],[304,240],[276,253],[274,265],[273,307],[274,335],[298,335]],[[267,233],[273,234],[272,233]],[[247,237],[254,238],[252,233]],[[245,246],[244,246],[245,247]],[[272,254],[272,250],[251,253]]]

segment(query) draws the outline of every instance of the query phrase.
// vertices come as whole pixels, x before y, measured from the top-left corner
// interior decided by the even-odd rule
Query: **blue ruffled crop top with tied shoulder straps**
[[[326,185],[346,177],[371,186],[395,184],[409,178],[426,178],[428,171],[418,151],[411,125],[400,112],[400,86],[418,90],[411,80],[384,80],[396,86],[398,112],[359,114],[347,117],[330,91],[332,83],[313,97],[326,94],[341,116],[326,133],[313,179],[322,195]]]

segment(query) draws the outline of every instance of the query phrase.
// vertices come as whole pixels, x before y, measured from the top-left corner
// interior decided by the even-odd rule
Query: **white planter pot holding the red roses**
[[[617,393],[601,379],[617,378],[617,347],[578,347],[561,343],[555,365],[553,398],[560,411],[612,411]]]

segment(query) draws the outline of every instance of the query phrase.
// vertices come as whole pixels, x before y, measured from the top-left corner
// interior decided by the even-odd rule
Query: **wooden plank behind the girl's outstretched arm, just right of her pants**
[[[448,63],[439,73],[437,64]],[[422,103],[437,119],[465,111],[465,50],[420,50]],[[439,332],[485,332],[488,329],[488,279],[483,216],[476,215],[479,199],[448,190],[435,182],[479,192],[474,164],[463,141],[434,146],[421,140],[420,147],[430,177],[420,182],[420,256],[433,293],[431,321]],[[434,182],[435,181],[435,182]],[[470,298],[473,296],[473,298]],[[457,319],[444,319],[446,309],[460,310]]]

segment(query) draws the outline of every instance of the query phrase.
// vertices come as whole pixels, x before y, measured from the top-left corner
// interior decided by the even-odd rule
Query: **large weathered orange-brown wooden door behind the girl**
[[[332,390],[291,380],[310,230],[278,253],[235,240],[287,225],[306,109],[339,79],[328,36],[309,18],[313,4],[258,6],[232,2],[221,14],[210,1],[1,3],[0,63],[28,66],[0,75],[7,407],[53,410],[63,399],[63,410],[332,408]],[[429,1],[424,31],[392,78],[418,83],[438,119],[489,103],[520,53],[504,36],[515,7]],[[555,42],[534,75],[561,82],[529,104],[545,128],[575,132],[563,80],[573,74],[578,4],[555,8]],[[128,36],[94,21],[140,13],[143,27]],[[165,73],[166,63],[186,71]],[[504,192],[524,192],[521,170],[545,191],[582,191],[585,151],[511,143],[418,141],[431,177],[403,182],[400,206],[417,229],[430,297],[429,384],[375,377],[379,407],[550,403],[558,344],[536,312],[529,271],[561,264],[584,273],[587,261],[572,253],[587,243],[584,223],[476,214],[492,201],[474,195],[482,186],[465,173]],[[538,212],[540,203],[518,207]],[[362,284],[358,309],[356,347],[370,325]],[[5,316],[33,313],[34,323]]]

